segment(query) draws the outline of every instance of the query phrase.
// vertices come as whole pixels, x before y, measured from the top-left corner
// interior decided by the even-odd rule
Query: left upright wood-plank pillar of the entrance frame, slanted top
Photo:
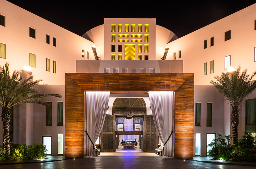
[[[84,157],[84,90],[65,75],[65,158]]]

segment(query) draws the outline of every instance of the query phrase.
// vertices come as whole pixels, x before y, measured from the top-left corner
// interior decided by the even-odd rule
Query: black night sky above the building
[[[64,1],[8,0],[58,26],[82,36],[104,24],[104,18],[156,18],[178,37],[182,37],[221,18],[256,3],[240,1]]]

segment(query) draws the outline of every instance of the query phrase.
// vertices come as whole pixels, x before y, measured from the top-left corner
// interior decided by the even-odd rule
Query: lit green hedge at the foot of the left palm
[[[36,156],[37,159],[45,158],[47,149],[46,145],[36,144],[27,145],[27,144],[10,144],[10,155],[4,154],[4,147],[0,146],[0,160],[8,159],[32,159],[33,156]]]

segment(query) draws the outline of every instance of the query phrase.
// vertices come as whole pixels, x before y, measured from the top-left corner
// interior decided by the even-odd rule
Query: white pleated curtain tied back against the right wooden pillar
[[[163,143],[172,132],[173,92],[148,92],[156,131]],[[172,156],[172,136],[164,146],[164,155]]]

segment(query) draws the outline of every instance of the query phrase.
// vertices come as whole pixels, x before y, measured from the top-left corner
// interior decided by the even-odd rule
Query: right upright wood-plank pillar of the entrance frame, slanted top
[[[194,75],[175,91],[174,125],[174,157],[193,159]]]

